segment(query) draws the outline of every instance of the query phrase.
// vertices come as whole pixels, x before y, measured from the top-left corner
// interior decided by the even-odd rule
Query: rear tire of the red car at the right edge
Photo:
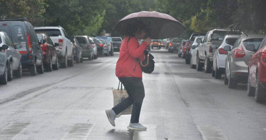
[[[265,102],[265,92],[266,90],[260,84],[259,74],[256,76],[256,88],[255,88],[255,101],[256,102]]]

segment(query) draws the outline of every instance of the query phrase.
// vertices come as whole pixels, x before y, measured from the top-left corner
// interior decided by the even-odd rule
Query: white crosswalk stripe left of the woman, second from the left
[[[85,140],[94,124],[74,124],[61,140]]]

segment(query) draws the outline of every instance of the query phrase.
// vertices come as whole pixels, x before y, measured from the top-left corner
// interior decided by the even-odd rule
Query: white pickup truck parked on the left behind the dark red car
[[[47,33],[53,43],[59,44],[55,48],[60,67],[74,66],[74,46],[63,27],[35,27],[34,29],[36,33]]]

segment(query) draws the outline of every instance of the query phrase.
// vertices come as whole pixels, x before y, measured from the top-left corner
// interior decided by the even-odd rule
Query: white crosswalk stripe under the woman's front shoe
[[[144,125],[147,130],[134,130],[133,140],[156,140],[157,125]]]

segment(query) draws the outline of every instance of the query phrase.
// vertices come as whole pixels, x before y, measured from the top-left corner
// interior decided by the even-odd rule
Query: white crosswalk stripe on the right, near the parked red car
[[[204,140],[228,140],[218,126],[198,126]]]

